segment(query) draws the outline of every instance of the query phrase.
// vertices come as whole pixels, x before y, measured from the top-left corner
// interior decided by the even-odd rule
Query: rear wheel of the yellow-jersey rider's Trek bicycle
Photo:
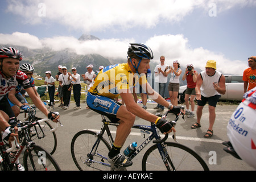
[[[93,131],[82,130],[71,142],[71,155],[77,168],[85,170],[110,170],[108,153],[111,150],[104,138],[98,138]]]

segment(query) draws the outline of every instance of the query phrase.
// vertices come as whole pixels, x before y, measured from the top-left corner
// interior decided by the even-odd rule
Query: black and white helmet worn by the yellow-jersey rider
[[[145,46],[144,44],[130,43],[129,49],[127,51],[128,56],[131,53],[134,53],[136,56],[141,59],[154,59],[153,52],[150,47]]]

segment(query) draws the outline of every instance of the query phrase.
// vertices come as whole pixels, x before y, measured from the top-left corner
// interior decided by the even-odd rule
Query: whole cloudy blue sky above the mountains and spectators
[[[123,58],[138,42],[151,47],[153,61],[165,55],[168,64],[203,69],[214,59],[220,71],[242,74],[256,55],[255,10],[253,0],[0,1],[0,41]],[[81,44],[83,33],[101,41]]]

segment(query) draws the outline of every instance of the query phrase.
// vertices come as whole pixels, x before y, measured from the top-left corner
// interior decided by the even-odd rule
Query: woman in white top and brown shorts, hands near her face
[[[170,100],[171,103],[175,106],[177,106],[177,96],[179,94],[179,89],[180,89],[180,74],[181,74],[181,69],[180,69],[180,63],[179,61],[174,61],[173,63],[174,67],[169,67],[169,71],[166,73],[169,74],[171,73],[171,78],[170,78],[170,83],[168,85],[168,91],[170,94]]]

